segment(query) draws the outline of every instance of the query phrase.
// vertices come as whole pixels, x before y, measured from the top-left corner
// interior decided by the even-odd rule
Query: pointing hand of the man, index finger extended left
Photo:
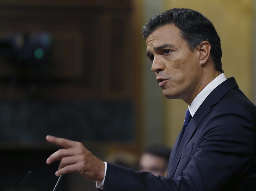
[[[105,164],[87,150],[81,142],[47,135],[46,141],[63,147],[47,158],[46,163],[60,161],[56,176],[78,172],[85,178],[101,182],[104,179]]]

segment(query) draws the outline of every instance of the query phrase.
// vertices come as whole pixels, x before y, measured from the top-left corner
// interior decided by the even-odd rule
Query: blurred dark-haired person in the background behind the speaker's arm
[[[140,156],[139,171],[166,177],[170,154],[171,149],[163,145],[153,145],[146,148]]]

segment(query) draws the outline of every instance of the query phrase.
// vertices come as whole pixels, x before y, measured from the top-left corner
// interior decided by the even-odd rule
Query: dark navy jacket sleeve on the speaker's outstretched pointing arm
[[[182,176],[164,178],[109,164],[104,191],[220,190],[239,179],[252,163],[254,125],[243,107],[228,107],[205,121],[201,143]],[[232,112],[231,112],[232,111]]]

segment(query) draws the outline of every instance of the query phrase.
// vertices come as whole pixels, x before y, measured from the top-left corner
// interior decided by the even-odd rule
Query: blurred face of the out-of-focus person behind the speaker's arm
[[[163,157],[144,153],[140,157],[139,171],[150,172],[155,176],[167,174],[167,161]]]

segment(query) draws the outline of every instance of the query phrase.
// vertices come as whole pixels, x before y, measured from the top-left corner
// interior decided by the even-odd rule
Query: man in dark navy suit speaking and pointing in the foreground
[[[190,9],[172,9],[143,28],[152,71],[167,98],[188,104],[167,178],[100,161],[81,143],[46,137],[67,149],[56,175],[79,172],[113,190],[256,190],[256,107],[226,79],[220,38],[211,21]],[[242,63],[241,63],[242,64]],[[98,185],[99,186],[99,185]]]

